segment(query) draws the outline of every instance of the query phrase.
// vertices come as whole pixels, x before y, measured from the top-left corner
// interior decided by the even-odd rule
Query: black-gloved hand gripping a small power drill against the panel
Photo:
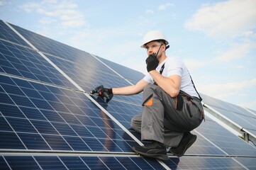
[[[106,103],[108,103],[108,101],[111,101],[111,99],[113,98],[112,89],[106,89],[103,85],[97,86],[90,93],[98,94],[98,96],[102,98]]]

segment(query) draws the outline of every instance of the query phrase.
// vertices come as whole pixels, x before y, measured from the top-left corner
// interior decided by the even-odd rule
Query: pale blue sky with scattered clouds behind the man
[[[144,74],[160,30],[199,93],[256,111],[255,0],[0,0],[0,19]]]

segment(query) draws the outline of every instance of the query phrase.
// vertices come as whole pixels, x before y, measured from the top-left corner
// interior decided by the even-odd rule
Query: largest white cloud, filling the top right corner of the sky
[[[251,34],[256,28],[255,8],[255,0],[230,0],[206,4],[185,23],[185,27],[222,38]]]

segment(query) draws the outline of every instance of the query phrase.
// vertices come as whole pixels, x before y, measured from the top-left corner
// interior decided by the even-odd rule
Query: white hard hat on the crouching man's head
[[[163,33],[161,33],[159,30],[151,30],[145,34],[143,38],[143,45],[141,45],[140,47],[145,48],[145,45],[153,40],[164,40],[166,46],[169,44]]]

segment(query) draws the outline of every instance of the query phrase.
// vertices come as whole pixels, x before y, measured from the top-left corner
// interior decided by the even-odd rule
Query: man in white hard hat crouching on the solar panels
[[[133,86],[104,89],[109,95],[132,95],[143,91],[143,111],[131,121],[131,127],[141,133],[141,140],[150,144],[133,147],[145,156],[167,160],[169,152],[182,157],[196,141],[190,133],[204,119],[201,97],[184,63],[167,57],[168,41],[160,31],[153,30],[144,36],[141,47],[148,53],[148,74]]]

